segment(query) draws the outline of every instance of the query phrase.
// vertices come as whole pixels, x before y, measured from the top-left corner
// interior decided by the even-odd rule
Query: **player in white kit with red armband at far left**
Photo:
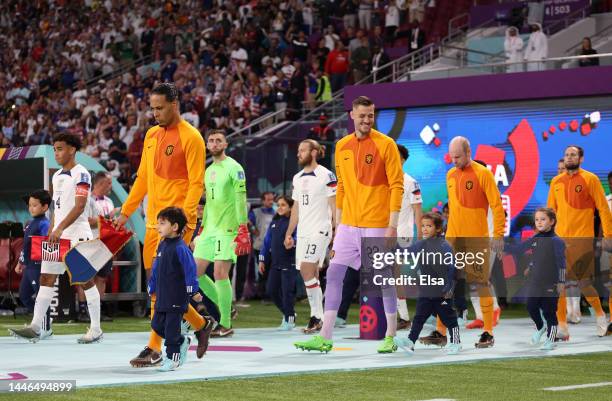
[[[55,161],[61,169],[53,174],[53,218],[50,242],[68,239],[72,246],[81,241],[92,239],[89,227],[87,199],[91,187],[91,176],[80,164],[76,163],[76,153],[81,148],[81,140],[71,134],[59,134],[53,139]],[[40,289],[34,305],[34,316],[29,326],[11,330],[17,337],[37,342],[45,337],[42,322],[54,295],[53,286],[60,274],[66,271],[62,262],[43,261],[40,268]],[[91,324],[87,333],[78,339],[81,344],[98,342],[102,339],[100,328],[100,293],[93,279],[82,285],[87,298]],[[50,330],[50,328],[48,328]]]

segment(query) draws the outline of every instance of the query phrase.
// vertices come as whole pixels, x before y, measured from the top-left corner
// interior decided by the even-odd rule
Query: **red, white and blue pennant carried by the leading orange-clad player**
[[[64,256],[70,285],[83,284],[92,279],[132,237],[132,233],[125,228],[115,230],[112,221],[102,216],[98,218],[98,223],[100,238],[79,242]]]

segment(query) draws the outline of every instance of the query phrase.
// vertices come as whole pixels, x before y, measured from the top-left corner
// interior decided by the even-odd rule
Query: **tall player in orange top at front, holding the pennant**
[[[160,235],[157,231],[157,216],[169,206],[183,209],[187,224],[182,236],[191,240],[197,223],[197,208],[204,186],[206,148],[200,132],[181,118],[179,92],[171,83],[159,84],[151,91],[149,99],[157,125],[145,136],[136,180],[115,220],[115,226],[126,224],[129,216],[139,207],[147,195],[146,230],[142,259],[147,275],[151,278],[153,261],[157,254]],[[151,319],[155,313],[156,295],[151,295]],[[91,312],[91,311],[90,311]],[[208,348],[214,319],[202,317],[189,305],[184,319],[195,330],[198,340],[196,355],[202,358]],[[130,361],[135,368],[159,365],[162,338],[151,331],[149,344]]]

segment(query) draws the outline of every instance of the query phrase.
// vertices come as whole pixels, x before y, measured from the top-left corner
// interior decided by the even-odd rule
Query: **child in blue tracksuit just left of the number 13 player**
[[[277,205],[276,215],[272,218],[259,253],[259,271],[263,274],[266,264],[270,265],[266,291],[283,313],[279,330],[285,331],[295,327],[295,248],[286,249],[284,245],[293,199],[281,196]],[[295,239],[295,232],[293,235]]]

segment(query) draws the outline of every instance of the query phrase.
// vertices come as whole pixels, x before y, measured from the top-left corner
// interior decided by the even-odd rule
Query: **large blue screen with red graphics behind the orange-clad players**
[[[506,233],[530,231],[533,212],[546,205],[551,179],[566,146],[584,148],[583,168],[607,193],[612,170],[612,102],[588,97],[528,102],[381,110],[377,129],[410,151],[404,170],[418,180],[424,209],[447,201],[448,143],[467,137],[472,157],[493,172],[508,213]]]

